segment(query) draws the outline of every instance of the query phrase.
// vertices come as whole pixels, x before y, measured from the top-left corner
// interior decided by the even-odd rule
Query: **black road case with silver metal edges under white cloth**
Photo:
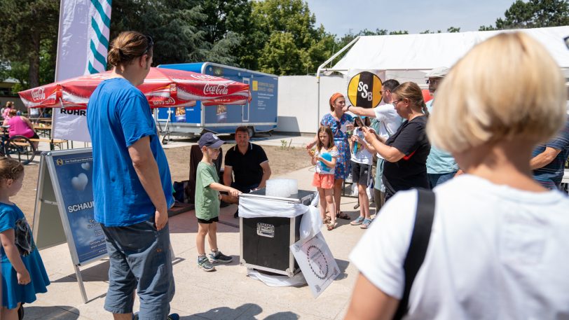
[[[298,195],[280,198],[266,196],[265,189],[261,189],[244,196],[310,205],[315,193],[314,191],[299,190]],[[241,265],[256,270],[284,274],[289,277],[298,273],[300,271],[299,265],[294,260],[290,246],[300,240],[302,216],[303,214],[294,218],[240,217]]]

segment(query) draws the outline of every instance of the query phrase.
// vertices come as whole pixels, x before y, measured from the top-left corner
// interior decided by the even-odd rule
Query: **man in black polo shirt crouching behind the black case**
[[[265,183],[270,177],[265,151],[261,146],[249,142],[247,127],[238,127],[235,130],[235,142],[236,145],[225,155],[224,184],[242,193],[265,188]],[[238,203],[238,199],[234,197],[226,202]],[[233,218],[238,216],[239,210],[235,211]]]

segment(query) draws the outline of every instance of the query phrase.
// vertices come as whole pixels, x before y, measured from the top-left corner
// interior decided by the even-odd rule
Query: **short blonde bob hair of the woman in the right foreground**
[[[565,99],[561,71],[540,43],[522,32],[498,34],[445,77],[427,135],[452,153],[514,137],[546,141],[567,118]]]

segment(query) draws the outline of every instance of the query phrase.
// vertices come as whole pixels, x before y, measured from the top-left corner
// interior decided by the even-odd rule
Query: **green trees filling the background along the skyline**
[[[60,0],[0,0],[0,8],[0,80],[17,79],[17,90],[52,82]],[[559,25],[569,25],[567,0],[516,0],[480,30]],[[312,74],[357,36],[408,34],[336,37],[316,25],[306,0],[114,0],[111,39],[125,30],[153,36],[156,64],[210,61],[279,75]]]

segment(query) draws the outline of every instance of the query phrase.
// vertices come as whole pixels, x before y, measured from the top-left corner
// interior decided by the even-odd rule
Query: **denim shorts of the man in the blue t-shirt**
[[[104,309],[119,314],[132,312],[136,289],[139,319],[166,319],[174,297],[168,225],[156,230],[152,216],[134,225],[101,227],[111,262]]]

